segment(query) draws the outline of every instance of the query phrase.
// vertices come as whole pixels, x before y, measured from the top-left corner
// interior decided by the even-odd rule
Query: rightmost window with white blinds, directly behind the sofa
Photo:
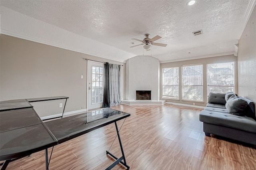
[[[234,62],[207,64],[207,94],[235,92]]]

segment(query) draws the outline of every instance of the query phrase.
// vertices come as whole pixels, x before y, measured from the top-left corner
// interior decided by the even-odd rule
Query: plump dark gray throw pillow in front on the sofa
[[[225,106],[232,115],[244,116],[247,105],[247,101],[240,99],[236,95],[232,95]]]

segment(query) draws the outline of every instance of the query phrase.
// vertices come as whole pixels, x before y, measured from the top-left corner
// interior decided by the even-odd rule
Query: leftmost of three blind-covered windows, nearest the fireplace
[[[163,68],[162,97],[179,99],[179,67]]]

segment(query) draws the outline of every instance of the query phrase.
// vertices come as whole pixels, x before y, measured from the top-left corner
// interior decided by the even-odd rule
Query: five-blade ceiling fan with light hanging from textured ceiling
[[[138,39],[136,39],[136,38],[132,38],[132,40],[136,40],[136,41],[139,41],[139,42],[143,42],[142,44],[138,44],[138,45],[134,45],[134,46],[131,46],[130,48],[132,48],[132,47],[137,47],[137,46],[139,46],[139,45],[144,45],[143,47],[144,47],[144,49],[146,49],[147,51],[149,51],[150,49],[151,49],[151,45],[157,45],[157,46],[161,46],[161,47],[166,47],[166,45],[167,44],[165,44],[165,43],[154,43],[154,41],[156,41],[156,40],[159,40],[160,38],[162,38],[162,37],[160,37],[160,36],[155,36],[155,37],[153,37],[153,38],[148,38],[149,37],[149,35],[150,34],[145,34],[145,37],[146,38],[144,38],[143,40],[138,40]]]

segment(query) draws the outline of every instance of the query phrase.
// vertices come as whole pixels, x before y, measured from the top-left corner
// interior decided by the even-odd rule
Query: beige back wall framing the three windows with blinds
[[[237,80],[237,57],[234,55],[224,55],[224,56],[219,56],[219,57],[209,57],[209,58],[202,58],[202,59],[192,59],[192,60],[186,60],[186,61],[176,61],[176,62],[171,62],[171,63],[161,63],[160,67],[161,67],[161,75],[162,75],[162,70],[163,68],[168,68],[168,67],[179,67],[179,77],[180,77],[180,82],[181,82],[181,77],[182,77],[182,73],[181,73],[181,66],[182,65],[194,65],[194,64],[202,64],[203,65],[203,102],[195,102],[195,101],[185,101],[181,99],[181,92],[182,92],[182,87],[181,85],[179,86],[179,91],[180,91],[180,99],[165,99],[162,98],[162,88],[161,88],[161,92],[160,92],[160,97],[162,100],[166,100],[167,102],[173,102],[173,103],[182,103],[182,104],[187,104],[187,105],[193,105],[193,103],[195,103],[195,105],[198,106],[206,106],[207,103],[207,72],[206,72],[206,64],[209,63],[224,63],[224,62],[231,62],[234,61],[235,62],[235,77]],[[160,79],[161,82],[161,86],[162,87],[162,76]],[[238,93],[238,83],[237,81],[235,82],[235,88],[236,88],[236,93]]]

